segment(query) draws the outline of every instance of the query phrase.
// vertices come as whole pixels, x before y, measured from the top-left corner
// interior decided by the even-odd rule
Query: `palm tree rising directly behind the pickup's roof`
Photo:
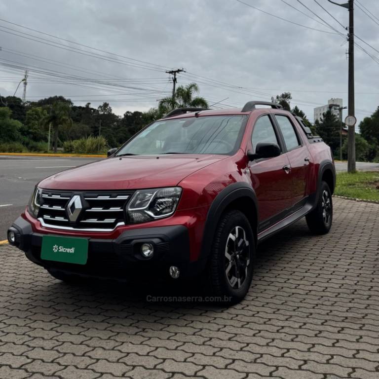
[[[159,102],[159,114],[163,115],[175,108],[199,107],[208,108],[208,102],[200,96],[193,97],[194,93],[199,92],[199,87],[196,83],[189,83],[185,87],[179,86],[172,97],[165,97]]]

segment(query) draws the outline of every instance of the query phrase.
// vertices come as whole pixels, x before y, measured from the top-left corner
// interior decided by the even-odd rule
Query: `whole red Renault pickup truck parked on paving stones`
[[[261,241],[332,225],[331,150],[278,104],[177,109],[109,155],[42,180],[8,229],[55,278],[202,278],[235,303]]]

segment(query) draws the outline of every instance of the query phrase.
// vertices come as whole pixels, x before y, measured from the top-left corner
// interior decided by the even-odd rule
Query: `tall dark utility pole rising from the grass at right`
[[[355,119],[355,100],[354,100],[354,0],[339,4],[335,1],[329,2],[340,5],[349,10],[349,89],[348,89],[348,117]],[[347,137],[347,172],[355,171],[355,123],[348,125]]]

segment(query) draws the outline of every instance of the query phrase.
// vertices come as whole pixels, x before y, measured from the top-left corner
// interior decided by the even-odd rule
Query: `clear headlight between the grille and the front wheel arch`
[[[181,193],[180,187],[137,191],[126,208],[129,223],[145,223],[172,215],[178,205]]]

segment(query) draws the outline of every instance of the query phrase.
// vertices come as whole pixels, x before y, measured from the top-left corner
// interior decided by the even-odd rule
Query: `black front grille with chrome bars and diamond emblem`
[[[132,193],[42,189],[38,219],[46,227],[113,230],[124,224],[125,204]],[[73,201],[76,195],[78,203]]]

